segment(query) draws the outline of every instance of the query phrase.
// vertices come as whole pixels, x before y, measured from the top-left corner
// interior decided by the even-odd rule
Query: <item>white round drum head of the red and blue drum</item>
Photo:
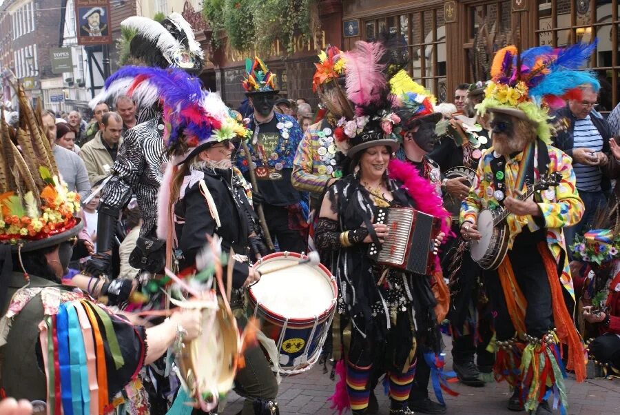
[[[265,257],[257,270],[265,272],[299,260],[299,256],[293,254],[273,254]],[[333,307],[336,296],[329,272],[320,265],[309,264],[265,274],[249,288],[249,292],[268,312],[291,319],[324,314]]]

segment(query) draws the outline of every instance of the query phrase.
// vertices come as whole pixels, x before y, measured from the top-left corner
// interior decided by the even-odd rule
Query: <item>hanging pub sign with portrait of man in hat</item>
[[[78,45],[109,45],[110,0],[75,0],[75,22]]]

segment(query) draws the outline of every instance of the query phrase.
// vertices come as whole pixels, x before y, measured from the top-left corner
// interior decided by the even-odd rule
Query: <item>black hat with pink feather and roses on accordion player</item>
[[[380,42],[358,41],[343,54],[347,98],[355,105],[355,117],[338,120],[334,134],[338,150],[349,157],[375,145],[398,148],[395,129],[400,118],[392,109],[395,97],[384,74],[384,53]]]

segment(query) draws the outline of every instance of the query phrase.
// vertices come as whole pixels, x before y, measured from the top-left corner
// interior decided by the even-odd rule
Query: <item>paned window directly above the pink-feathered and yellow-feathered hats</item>
[[[399,16],[364,21],[365,39],[375,39],[382,31],[398,34],[409,51],[409,74],[446,100],[446,26],[444,8],[417,11]]]

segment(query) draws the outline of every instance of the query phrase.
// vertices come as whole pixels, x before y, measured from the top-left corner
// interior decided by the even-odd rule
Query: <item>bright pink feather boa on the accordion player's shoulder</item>
[[[430,181],[420,176],[417,168],[406,163],[406,161],[393,159],[388,167],[388,175],[390,179],[402,181],[402,188],[415,201],[417,210],[439,218],[441,220],[441,232],[444,232],[446,236],[450,234],[450,214],[444,209],[444,202],[435,192],[435,187],[431,185]]]

